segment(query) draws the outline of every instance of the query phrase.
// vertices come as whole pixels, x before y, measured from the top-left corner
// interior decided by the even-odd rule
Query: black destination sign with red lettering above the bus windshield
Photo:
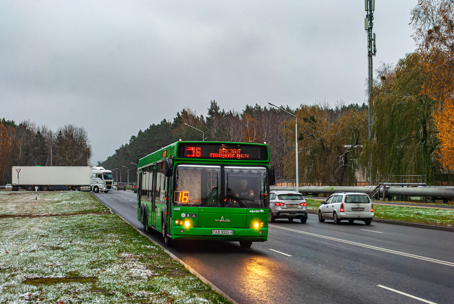
[[[266,160],[268,153],[265,146],[256,145],[210,145],[210,144],[182,144],[178,147],[180,158],[202,159],[238,159],[238,160]]]

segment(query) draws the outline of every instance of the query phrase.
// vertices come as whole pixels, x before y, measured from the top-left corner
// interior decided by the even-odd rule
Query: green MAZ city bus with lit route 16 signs
[[[268,146],[178,141],[139,160],[137,218],[147,234],[176,239],[239,241],[268,236]]]

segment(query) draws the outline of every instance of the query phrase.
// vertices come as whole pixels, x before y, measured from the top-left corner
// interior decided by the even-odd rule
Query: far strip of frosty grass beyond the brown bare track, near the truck
[[[0,191],[0,214],[44,215],[75,214],[109,211],[89,192],[40,191],[35,200],[35,191]]]

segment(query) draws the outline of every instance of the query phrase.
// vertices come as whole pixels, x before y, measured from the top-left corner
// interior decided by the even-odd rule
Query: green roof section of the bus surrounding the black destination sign
[[[229,146],[232,146],[232,145],[242,145],[242,146],[264,146],[266,147],[266,159],[260,159],[260,160],[257,160],[257,159],[242,159],[240,160],[241,162],[252,162],[252,163],[264,163],[264,164],[267,164],[269,162],[269,151],[268,151],[268,145],[265,145],[265,144],[255,144],[255,143],[235,143],[235,142],[221,142],[221,141],[177,141],[177,142],[174,142],[173,144],[170,144],[166,147],[163,147],[162,149],[160,150],[157,150],[155,152],[153,152],[152,154],[149,154],[141,159],[139,159],[139,163],[138,163],[138,169],[142,168],[142,167],[145,167],[145,166],[148,166],[149,164],[153,164],[155,162],[158,162],[162,159],[166,159],[169,157],[169,155],[172,155],[175,157],[175,161],[177,160],[181,160],[181,159],[184,159],[184,160],[187,160],[187,161],[194,161],[194,160],[197,160],[197,162],[201,162],[201,163],[219,163],[220,161],[222,161],[222,163],[225,163],[225,164],[228,164],[228,163],[238,163],[238,159],[236,158],[231,158],[231,159],[228,159],[228,158],[223,158],[223,159],[219,159],[219,158],[216,158],[216,159],[206,159],[206,158],[202,158],[202,159],[188,159],[188,158],[178,158],[177,156],[177,151],[178,151],[178,147],[179,145],[186,145],[186,144],[193,144],[193,145],[209,145],[209,144],[212,144],[212,145],[229,145]]]

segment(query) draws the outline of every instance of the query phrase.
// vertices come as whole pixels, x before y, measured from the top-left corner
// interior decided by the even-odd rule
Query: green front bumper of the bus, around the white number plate
[[[213,234],[213,230],[232,231],[232,234]],[[183,232],[182,232],[183,231]],[[254,241],[264,242],[268,238],[268,228],[207,228],[183,227],[172,228],[172,239],[213,239],[224,241]]]

